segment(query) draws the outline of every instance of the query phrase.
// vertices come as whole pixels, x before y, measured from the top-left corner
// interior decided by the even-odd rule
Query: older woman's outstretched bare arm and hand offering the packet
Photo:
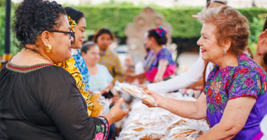
[[[157,107],[161,107],[179,115],[181,117],[186,117],[190,119],[200,120],[205,118],[207,110],[206,96],[204,93],[196,101],[186,101],[186,100],[175,100],[171,98],[166,98],[151,91],[145,91],[147,94],[155,98],[157,102]],[[152,107],[149,104],[146,104],[148,107]]]

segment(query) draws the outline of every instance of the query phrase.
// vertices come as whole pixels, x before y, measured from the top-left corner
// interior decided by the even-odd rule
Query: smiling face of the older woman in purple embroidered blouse
[[[203,24],[201,38],[199,38],[197,44],[201,46],[203,60],[214,63],[214,61],[218,61],[223,57],[223,51],[225,47],[218,45],[216,39],[216,26],[214,24]]]

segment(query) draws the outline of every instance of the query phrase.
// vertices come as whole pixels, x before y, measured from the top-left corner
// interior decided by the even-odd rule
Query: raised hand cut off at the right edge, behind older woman
[[[257,53],[264,55],[267,53],[267,29],[259,35],[257,42]]]

